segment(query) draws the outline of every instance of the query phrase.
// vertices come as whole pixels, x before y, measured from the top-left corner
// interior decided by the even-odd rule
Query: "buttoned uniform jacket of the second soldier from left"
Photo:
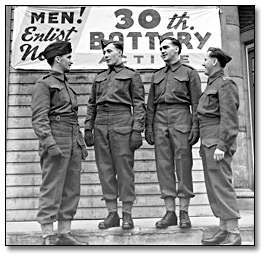
[[[144,87],[137,71],[121,64],[97,74],[89,96],[85,129],[93,129],[97,106],[108,102],[132,106],[134,118],[132,129],[143,131]]]

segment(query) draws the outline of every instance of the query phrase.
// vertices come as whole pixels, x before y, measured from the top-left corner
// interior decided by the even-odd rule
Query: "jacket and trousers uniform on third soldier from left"
[[[156,71],[147,103],[146,135],[154,133],[155,157],[162,198],[194,197],[190,132],[198,132],[197,105],[201,81],[180,60]],[[192,107],[192,113],[190,112]],[[176,189],[175,171],[178,178]]]

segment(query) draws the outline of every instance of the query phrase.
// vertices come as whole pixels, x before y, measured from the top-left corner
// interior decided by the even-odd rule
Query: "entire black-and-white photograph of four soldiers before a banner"
[[[180,3],[3,7],[6,247],[255,249],[256,6]]]

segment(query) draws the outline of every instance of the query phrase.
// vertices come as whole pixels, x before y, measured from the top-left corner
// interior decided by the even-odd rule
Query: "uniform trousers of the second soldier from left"
[[[115,108],[116,109],[116,108]],[[130,109],[97,110],[94,127],[96,164],[102,199],[133,202],[134,152],[130,149],[133,117]]]

